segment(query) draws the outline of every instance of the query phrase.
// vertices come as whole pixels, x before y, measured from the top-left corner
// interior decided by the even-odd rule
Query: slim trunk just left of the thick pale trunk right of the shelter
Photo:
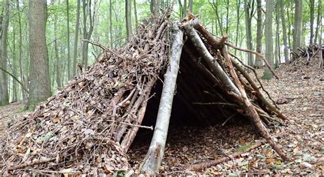
[[[261,9],[261,0],[256,0],[256,10],[258,12],[258,19],[256,21],[256,51],[261,53],[262,50],[262,9]],[[254,62],[254,66],[256,68],[261,67],[261,58],[256,56],[256,61]]]

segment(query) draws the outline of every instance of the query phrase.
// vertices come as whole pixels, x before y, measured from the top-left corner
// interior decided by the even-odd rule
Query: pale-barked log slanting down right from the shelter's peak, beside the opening
[[[191,23],[185,25],[185,32],[187,36],[191,39],[191,42],[193,42],[193,45],[196,47],[198,53],[200,53],[204,61],[208,64],[208,67],[210,68],[211,72],[215,75],[215,77],[219,78],[221,83],[223,83],[228,88],[228,90],[240,95],[239,90],[230,80],[230,77],[228,77],[226,72],[224,72],[221,66],[219,66],[218,62],[214,62],[214,57],[211,55],[211,53],[208,52],[206,46],[204,46],[204,42],[202,42],[200,36],[198,36],[198,33],[195,31],[195,29],[193,29]]]

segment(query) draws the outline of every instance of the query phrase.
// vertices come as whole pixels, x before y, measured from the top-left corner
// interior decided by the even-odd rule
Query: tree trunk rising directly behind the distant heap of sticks
[[[303,22],[303,0],[295,0],[295,25],[293,31],[293,51],[299,53],[297,48],[301,46]]]

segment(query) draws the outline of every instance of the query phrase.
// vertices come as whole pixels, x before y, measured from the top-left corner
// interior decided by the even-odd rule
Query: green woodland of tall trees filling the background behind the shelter
[[[84,39],[121,47],[139,24],[150,23],[152,14],[168,5],[167,0],[0,1],[0,104],[29,98],[33,107],[102,54]],[[322,5],[320,0],[179,0],[172,19],[190,10],[208,31],[227,33],[236,46],[265,53],[277,68],[297,47],[323,42]],[[252,54],[234,53],[249,66],[262,66]]]

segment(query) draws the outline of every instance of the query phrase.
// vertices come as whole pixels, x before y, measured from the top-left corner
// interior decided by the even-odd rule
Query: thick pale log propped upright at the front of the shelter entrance
[[[172,109],[172,100],[176,90],[176,78],[178,75],[181,51],[183,49],[183,31],[174,24],[174,42],[172,44],[170,65],[165,72],[165,79],[159,111],[157,114],[157,123],[155,124],[154,134],[144,159],[142,172],[159,172],[159,167],[164,155],[165,141],[167,140],[167,130],[169,128],[170,115]]]

